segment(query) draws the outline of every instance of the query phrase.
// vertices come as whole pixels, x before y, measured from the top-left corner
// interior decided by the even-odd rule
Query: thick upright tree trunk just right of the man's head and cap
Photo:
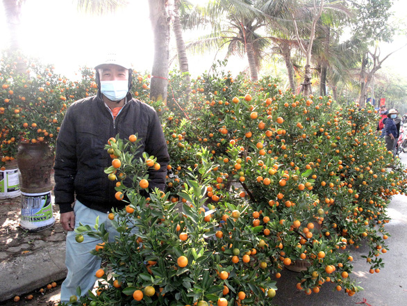
[[[167,104],[169,64],[169,21],[166,0],[149,0],[151,28],[154,36],[154,59],[151,70],[150,99]]]

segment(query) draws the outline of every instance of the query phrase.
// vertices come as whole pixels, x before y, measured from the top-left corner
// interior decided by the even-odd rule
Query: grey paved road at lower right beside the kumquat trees
[[[407,164],[407,154],[401,154]],[[333,284],[324,284],[319,293],[307,296],[295,288],[299,273],[284,270],[277,280],[276,305],[279,306],[349,306],[366,300],[371,306],[407,305],[407,196],[395,195],[388,207],[391,218],[386,225],[390,233],[388,252],[381,255],[385,262],[380,273],[369,273],[369,265],[360,255],[367,255],[366,248],[351,250],[354,257],[354,273],[351,274],[359,286],[365,289],[349,297],[343,291],[335,291]],[[357,304],[357,305],[366,305]]]

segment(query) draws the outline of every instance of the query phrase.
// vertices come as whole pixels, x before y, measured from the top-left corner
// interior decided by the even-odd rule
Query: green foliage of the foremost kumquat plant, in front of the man
[[[241,211],[249,209],[247,204],[242,207],[225,204],[222,209],[204,209],[205,184],[213,168],[208,161],[210,152],[202,150],[198,154],[199,166],[189,170],[180,193],[187,201],[178,204],[169,202],[169,193],[158,190],[151,191],[149,198],[140,195],[138,182],[146,177],[140,176],[140,172],[147,172],[147,166],[143,160],[131,158],[138,151],[137,143],[124,143],[116,138],[106,145],[107,149],[119,151],[117,159],[122,161],[122,167],[118,170],[134,177],[132,187],[117,188],[126,193],[132,210],[114,213],[112,225],[119,233],[115,242],[108,241],[109,234],[104,224],[97,222],[94,228],[80,225],[76,229],[78,236],[88,234],[103,241],[103,248],[92,253],[108,262],[105,270],[110,273],[103,275],[97,295],[90,293],[73,305],[92,301],[108,305],[133,304],[133,293],[138,289],[144,291],[147,286],[153,286],[157,294],[147,296],[144,291],[139,302],[142,305],[192,305],[197,300],[216,302],[222,296],[233,302],[238,291],[246,293],[244,303],[247,305],[266,305],[269,298],[260,288],[275,289],[275,282],[267,269],[254,269],[256,262],[267,260],[266,256],[259,253],[258,259],[253,258],[250,263],[231,263],[231,243],[238,241],[233,247],[247,252],[258,244],[258,230],[244,218],[229,218],[226,223],[219,223],[215,218],[206,219],[215,212],[229,211],[231,207]],[[145,160],[149,158],[151,156],[144,156]],[[113,169],[106,169],[107,174],[111,171]],[[215,239],[221,228],[228,236],[231,228],[236,231],[222,241]],[[187,237],[181,239],[181,233]],[[228,250],[223,252],[225,248]],[[185,267],[178,263],[182,256],[188,259]],[[227,279],[219,277],[222,271],[229,273]],[[115,280],[120,287],[115,287]],[[229,288],[225,295],[222,293],[224,286]]]

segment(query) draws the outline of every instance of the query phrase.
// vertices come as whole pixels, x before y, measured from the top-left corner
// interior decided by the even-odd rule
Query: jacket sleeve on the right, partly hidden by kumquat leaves
[[[158,187],[161,191],[165,190],[165,179],[167,176],[167,166],[169,163],[169,154],[167,150],[167,141],[161,127],[160,118],[154,111],[152,120],[149,123],[149,130],[146,140],[145,151],[149,155],[157,158],[157,163],[160,164],[160,170],[149,169],[149,189],[151,191]]]

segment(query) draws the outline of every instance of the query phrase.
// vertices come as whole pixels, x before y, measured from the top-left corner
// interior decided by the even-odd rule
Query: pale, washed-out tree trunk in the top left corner
[[[15,51],[19,49],[19,26],[21,24],[22,2],[17,0],[3,0],[4,13],[10,35],[10,49]]]

